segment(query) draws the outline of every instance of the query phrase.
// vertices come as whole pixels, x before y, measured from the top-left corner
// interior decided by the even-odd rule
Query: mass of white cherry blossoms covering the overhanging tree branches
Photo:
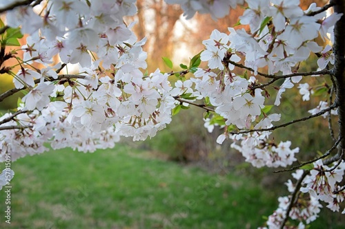
[[[279,122],[282,114],[270,113],[270,108],[279,106],[284,92],[297,84],[302,100],[310,100],[313,87],[302,83],[303,76],[296,73],[299,63],[311,54],[317,56],[321,70],[335,63],[331,45],[322,47],[315,39],[331,44],[333,25],[342,14],[327,16],[315,3],[302,10],[299,0],[166,2],[179,3],[187,18],[195,12],[224,17],[230,8],[248,5],[239,21],[245,28],[228,28],[227,34],[214,30],[203,41],[205,50],[196,57],[207,62],[208,68],[185,66],[183,75],[195,77],[181,74],[174,85],[168,76],[178,73],[159,69],[143,73],[146,39],[138,41],[132,32],[134,23],[124,23],[124,17],[137,11],[135,0],[49,0],[7,10],[5,24],[28,34],[21,47],[23,58],[16,56],[20,69],[7,72],[13,76],[15,89],[27,93],[16,111],[0,118],[0,162],[7,153],[17,160],[48,151],[46,142],[52,149],[93,152],[113,147],[120,136],[152,138],[171,122],[176,108],[197,99],[204,100],[200,107],[210,111],[206,127],[224,129],[217,142],[232,139],[232,147],[253,166],[288,166],[297,161],[298,147],[272,138],[273,122]],[[3,1],[0,8],[10,4]],[[61,63],[55,65],[57,58]],[[246,72],[239,74],[237,67]],[[267,69],[267,74],[261,69]],[[281,83],[273,85],[276,81]],[[275,94],[274,101],[267,99],[270,94]],[[336,115],[328,109],[331,102],[321,101],[308,112],[325,118]],[[301,188],[310,195],[296,201],[288,216],[292,195],[280,197],[279,208],[268,218],[269,228],[279,228],[286,217],[300,221],[297,227],[304,228],[304,223],[316,219],[319,200],[339,210],[345,195],[339,185],[344,162],[330,168],[320,160],[314,166]],[[295,174],[296,179],[300,176]],[[287,185],[290,193],[295,192],[291,181]]]

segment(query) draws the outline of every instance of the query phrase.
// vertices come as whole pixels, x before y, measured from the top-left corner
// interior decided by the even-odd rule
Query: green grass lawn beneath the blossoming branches
[[[11,224],[3,217],[3,189],[0,228],[257,228],[277,207],[253,180],[152,159],[121,144],[96,153],[51,151],[12,169]]]

